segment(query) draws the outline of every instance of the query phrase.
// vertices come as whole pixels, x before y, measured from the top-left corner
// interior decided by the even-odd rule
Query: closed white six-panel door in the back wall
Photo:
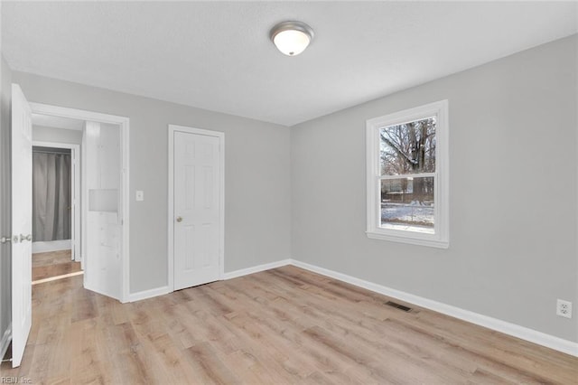
[[[173,289],[216,281],[222,271],[222,134],[172,126]],[[201,134],[199,132],[202,132]],[[207,135],[209,134],[209,135]]]

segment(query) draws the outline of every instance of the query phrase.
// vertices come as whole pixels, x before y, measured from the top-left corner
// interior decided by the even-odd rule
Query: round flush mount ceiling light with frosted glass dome
[[[313,30],[306,23],[278,23],[269,33],[277,49],[287,56],[296,56],[305,51],[313,40]]]

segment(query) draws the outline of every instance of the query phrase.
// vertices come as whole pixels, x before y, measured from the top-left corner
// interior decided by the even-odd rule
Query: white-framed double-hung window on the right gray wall
[[[367,121],[369,238],[447,248],[448,102]]]

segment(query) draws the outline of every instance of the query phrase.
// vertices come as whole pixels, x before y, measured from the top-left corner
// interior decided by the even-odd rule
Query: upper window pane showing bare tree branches
[[[435,172],[435,117],[379,129],[382,175]]]

